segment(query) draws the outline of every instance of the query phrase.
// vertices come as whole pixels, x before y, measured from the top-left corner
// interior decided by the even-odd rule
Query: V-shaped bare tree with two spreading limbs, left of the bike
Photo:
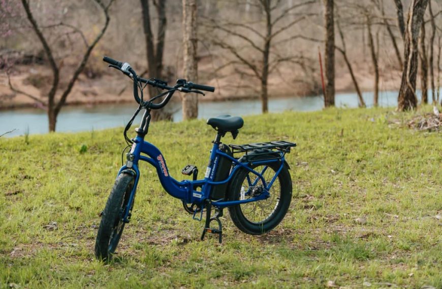
[[[35,20],[33,12],[31,11],[30,6],[29,6],[29,1],[28,0],[21,0],[23,8],[26,12],[26,17],[27,17],[28,21],[30,22],[30,24],[33,28],[33,31],[36,33],[40,43],[42,44],[44,52],[46,54],[46,57],[49,60],[49,64],[50,64],[50,67],[52,70],[53,78],[52,78],[51,89],[48,93],[47,102],[41,100],[38,97],[35,97],[33,95],[30,95],[28,93],[24,93],[18,89],[15,89],[12,86],[10,79],[9,79],[9,85],[13,91],[15,91],[17,93],[22,93],[22,94],[28,96],[29,98],[34,99],[35,101],[39,102],[41,105],[44,105],[47,107],[47,113],[48,113],[48,119],[49,119],[49,131],[55,131],[57,116],[61,110],[61,107],[63,105],[65,105],[66,99],[67,99],[68,95],[70,94],[72,88],[74,87],[74,84],[78,79],[78,76],[80,75],[81,71],[83,70],[84,66],[86,65],[87,60],[90,56],[90,53],[92,52],[93,48],[97,45],[97,43],[101,40],[101,38],[103,37],[103,35],[108,27],[109,20],[110,20],[108,11],[109,11],[109,7],[112,5],[113,2],[114,2],[114,0],[110,0],[107,4],[104,4],[101,0],[93,0],[93,3],[95,3],[103,11],[103,14],[105,16],[105,23],[104,23],[103,27],[101,28],[100,32],[94,38],[92,43],[89,44],[83,35],[83,40],[85,42],[86,50],[83,54],[80,64],[74,70],[74,73],[72,74],[66,88],[64,88],[64,90],[59,91],[61,89],[59,84],[60,84],[60,70],[63,65],[62,61],[56,60],[56,58],[54,56],[53,49],[50,47],[50,45],[47,41],[47,35],[45,35],[42,32],[41,27],[38,25],[37,21]],[[55,25],[56,26],[66,26],[63,23],[55,24]],[[77,30],[77,32],[80,32],[80,34],[82,34],[82,32],[79,31],[76,27],[71,27],[71,28],[74,30]],[[58,92],[60,92],[59,97],[57,97]]]

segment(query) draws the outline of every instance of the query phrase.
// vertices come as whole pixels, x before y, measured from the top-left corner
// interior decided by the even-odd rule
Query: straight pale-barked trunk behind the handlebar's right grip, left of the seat
[[[187,81],[198,82],[197,61],[197,2],[183,0],[183,47],[184,47],[184,78]],[[182,98],[183,120],[198,117],[198,95],[188,93]]]

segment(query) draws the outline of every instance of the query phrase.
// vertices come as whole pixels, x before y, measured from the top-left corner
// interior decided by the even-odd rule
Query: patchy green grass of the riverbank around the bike
[[[93,245],[121,164],[122,129],[0,138],[0,288],[442,288],[442,135],[389,124],[385,109],[245,117],[232,141],[291,140],[294,195],[263,236],[223,217],[224,240],[141,165],[132,222],[111,264]],[[214,131],[203,121],[154,123],[172,176],[204,171]],[[355,222],[355,219],[366,222]],[[57,223],[57,230],[44,227]],[[365,285],[364,285],[365,284]]]

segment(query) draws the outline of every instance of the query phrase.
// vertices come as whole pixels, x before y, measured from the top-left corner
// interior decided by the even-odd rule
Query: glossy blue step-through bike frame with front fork
[[[138,182],[140,179],[140,171],[138,168],[139,161],[145,161],[152,166],[156,168],[157,175],[160,179],[161,185],[166,190],[166,192],[185,203],[191,204],[195,203],[198,205],[204,204],[204,201],[206,201],[210,196],[210,189],[212,186],[216,185],[222,185],[230,182],[232,179],[232,176],[235,175],[236,171],[240,168],[246,169],[258,176],[258,178],[255,180],[254,183],[251,182],[249,176],[247,175],[247,180],[249,183],[249,187],[254,186],[257,184],[258,180],[261,179],[265,188],[264,192],[256,197],[252,197],[246,200],[238,200],[238,201],[212,201],[212,205],[218,208],[224,208],[228,206],[238,205],[238,204],[244,204],[249,202],[255,202],[267,199],[270,194],[269,190],[272,187],[276,177],[278,176],[279,172],[282,170],[283,164],[285,162],[285,156],[283,153],[280,153],[280,158],[270,159],[270,160],[263,160],[263,161],[254,161],[253,163],[256,165],[260,164],[268,164],[271,162],[277,162],[280,161],[281,165],[279,166],[279,169],[273,176],[273,178],[270,180],[270,182],[267,184],[265,178],[263,177],[264,172],[267,169],[267,166],[264,167],[264,169],[261,172],[255,171],[254,169],[250,168],[249,162],[239,162],[237,159],[225,154],[224,152],[219,150],[219,142],[214,142],[213,148],[210,154],[209,159],[209,165],[206,170],[206,174],[204,179],[200,180],[182,180],[181,182],[178,182],[176,179],[174,179],[169,174],[169,169],[166,164],[166,159],[164,158],[163,154],[160,152],[159,149],[157,149],[152,143],[147,142],[144,140],[144,135],[138,134],[136,138],[133,139],[133,144],[131,151],[129,155],[131,156],[131,161],[123,165],[120,170],[118,171],[118,175],[122,173],[123,171],[132,170],[135,172],[135,184],[131,192],[131,196],[129,198],[128,207],[126,208],[125,214],[123,216],[123,220],[125,222],[129,222],[128,216],[130,214],[130,210],[132,208],[132,203],[135,198],[135,194],[137,191]],[[145,154],[145,155],[142,155]],[[218,162],[219,158],[225,157],[231,160],[234,163],[234,166],[232,170],[230,171],[229,176],[222,181],[215,182],[213,180],[214,176],[216,175],[216,170],[218,168]],[[196,188],[200,187],[201,191],[195,190]],[[250,192],[247,192],[250,194]]]

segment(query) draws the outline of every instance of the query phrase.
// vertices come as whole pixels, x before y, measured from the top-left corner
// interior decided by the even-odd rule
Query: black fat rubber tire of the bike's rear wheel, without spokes
[[[276,173],[281,163],[272,162],[265,165],[267,165],[274,171],[274,173]],[[256,168],[258,166],[259,165],[252,165],[251,168]],[[239,169],[238,172],[233,176],[232,182],[230,183],[227,192],[227,198],[229,201],[236,201],[240,199],[241,187],[248,174],[255,176],[254,173],[249,172],[246,169]],[[249,221],[246,216],[244,216],[241,210],[241,205],[229,207],[230,218],[239,230],[250,235],[262,235],[275,228],[282,221],[289,209],[290,202],[292,200],[292,179],[290,177],[290,173],[286,164],[283,164],[283,167],[278,175],[278,180],[280,187],[278,204],[275,207],[274,211],[270,214],[270,216],[262,222],[255,223]]]

